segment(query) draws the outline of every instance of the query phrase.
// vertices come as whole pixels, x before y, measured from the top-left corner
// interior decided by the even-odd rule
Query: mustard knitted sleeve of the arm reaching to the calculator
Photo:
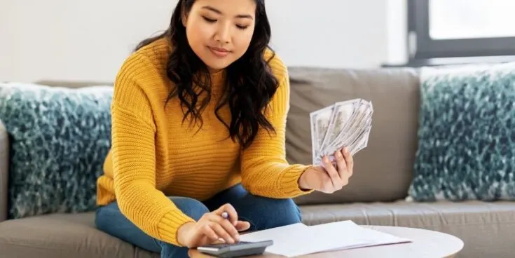
[[[153,81],[150,65],[144,57],[132,56],[116,77],[111,104],[114,189],[125,217],[149,236],[179,245],[179,227],[194,220],[156,189],[156,125],[142,89]]]

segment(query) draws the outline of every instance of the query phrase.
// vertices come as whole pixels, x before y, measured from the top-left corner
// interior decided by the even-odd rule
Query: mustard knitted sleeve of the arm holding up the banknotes
[[[254,195],[294,198],[313,191],[304,191],[298,186],[298,178],[310,165],[290,165],[287,162],[285,131],[289,111],[289,75],[278,57],[270,61],[270,67],[279,80],[279,87],[266,112],[275,132],[268,133],[260,128],[252,146],[242,151],[242,185]]]

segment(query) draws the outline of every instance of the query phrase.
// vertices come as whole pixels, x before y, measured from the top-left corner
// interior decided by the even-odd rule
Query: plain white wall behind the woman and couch
[[[404,13],[392,15],[404,1],[269,0],[271,46],[290,66],[378,67],[404,50]],[[112,81],[138,41],[167,27],[177,3],[0,2],[0,81]]]

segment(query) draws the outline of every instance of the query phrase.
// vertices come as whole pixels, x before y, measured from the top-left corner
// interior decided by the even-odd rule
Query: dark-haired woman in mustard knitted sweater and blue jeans
[[[289,165],[287,67],[264,0],[181,0],[122,65],[97,227],[161,257],[301,222],[291,198],[348,183],[352,157]],[[222,213],[228,213],[228,219]]]

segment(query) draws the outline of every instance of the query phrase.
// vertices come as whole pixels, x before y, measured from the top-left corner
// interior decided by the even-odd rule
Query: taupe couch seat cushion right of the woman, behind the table
[[[430,229],[461,238],[460,257],[513,257],[515,202],[352,203],[301,206],[305,224],[351,219],[357,224]]]

